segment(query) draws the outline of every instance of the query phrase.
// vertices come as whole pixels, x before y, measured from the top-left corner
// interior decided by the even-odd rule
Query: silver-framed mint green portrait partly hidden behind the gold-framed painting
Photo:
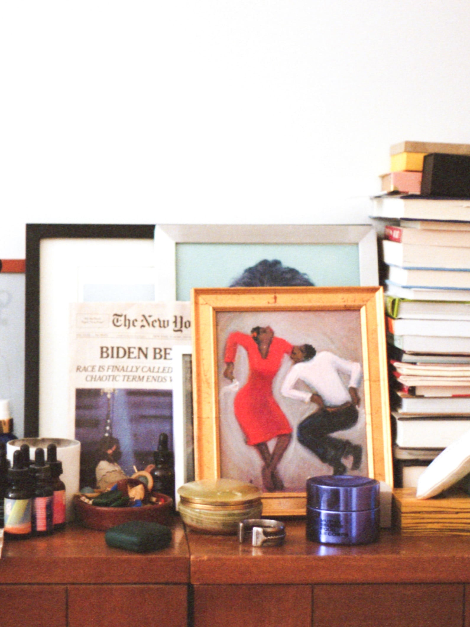
[[[243,285],[379,285],[372,224],[157,224],[154,250],[156,300],[191,300],[192,288],[232,287],[263,260],[270,267],[258,267]],[[281,268],[273,268],[274,260]],[[279,278],[285,268],[297,276]]]

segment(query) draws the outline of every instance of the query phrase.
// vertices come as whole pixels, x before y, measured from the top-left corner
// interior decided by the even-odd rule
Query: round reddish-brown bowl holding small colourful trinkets
[[[157,494],[163,498],[163,502],[142,507],[98,507],[80,500],[78,495],[73,497],[75,519],[83,527],[107,531],[111,527],[120,525],[129,520],[145,520],[145,522],[158,522],[160,525],[169,525],[172,520],[173,499],[165,494]]]

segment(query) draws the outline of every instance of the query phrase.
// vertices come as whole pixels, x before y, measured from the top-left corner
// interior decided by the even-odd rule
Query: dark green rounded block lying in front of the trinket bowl
[[[105,533],[106,544],[117,549],[145,553],[164,549],[171,542],[171,529],[157,522],[130,520]]]

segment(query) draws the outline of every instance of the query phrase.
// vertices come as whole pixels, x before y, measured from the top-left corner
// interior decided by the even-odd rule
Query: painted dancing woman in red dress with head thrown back
[[[273,379],[281,367],[285,355],[290,356],[293,345],[275,337],[271,327],[254,327],[251,335],[234,332],[229,335],[224,361],[224,377],[233,381],[234,361],[238,346],[248,353],[248,381],[236,394],[234,412],[246,443],[255,446],[264,466],[261,470],[264,489],[267,492],[283,490],[284,485],[277,472],[286,448],[291,441],[292,428],[273,396]],[[277,438],[273,452],[268,441]]]

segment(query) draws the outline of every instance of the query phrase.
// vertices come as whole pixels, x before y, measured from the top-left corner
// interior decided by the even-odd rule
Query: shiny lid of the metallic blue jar
[[[307,479],[307,506],[330,512],[360,512],[379,507],[380,483],[355,475]]]

